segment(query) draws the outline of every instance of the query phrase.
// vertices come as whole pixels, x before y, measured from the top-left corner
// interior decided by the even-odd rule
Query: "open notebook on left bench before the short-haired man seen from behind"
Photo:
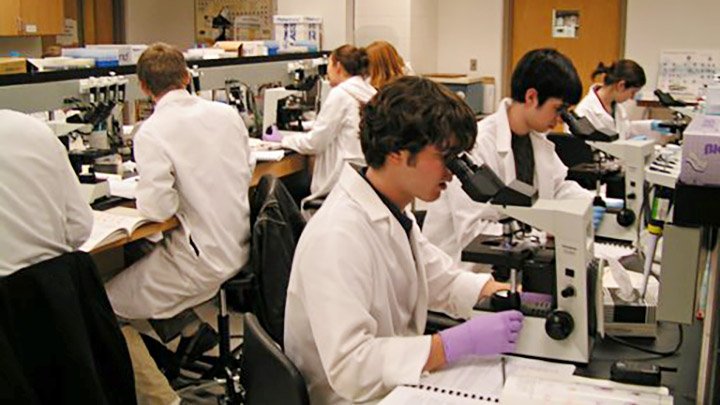
[[[80,250],[84,252],[130,236],[143,224],[152,222],[140,216],[136,209],[127,207],[114,207],[107,211],[93,210],[93,217],[92,233],[80,246]]]

